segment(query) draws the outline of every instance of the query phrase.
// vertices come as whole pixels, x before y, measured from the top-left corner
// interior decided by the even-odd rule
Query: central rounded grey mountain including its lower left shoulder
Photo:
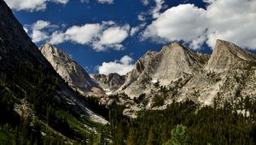
[[[128,96],[149,93],[152,84],[171,84],[179,78],[193,75],[201,70],[204,61],[178,43],[164,46],[160,52],[148,51],[136,62],[120,91]]]

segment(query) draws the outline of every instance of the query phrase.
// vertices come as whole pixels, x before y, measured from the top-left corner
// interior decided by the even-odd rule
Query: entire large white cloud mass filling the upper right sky
[[[231,41],[247,49],[256,49],[256,1],[204,0],[207,9],[180,4],[159,14],[142,38],[158,42],[183,40],[194,49],[216,39]]]

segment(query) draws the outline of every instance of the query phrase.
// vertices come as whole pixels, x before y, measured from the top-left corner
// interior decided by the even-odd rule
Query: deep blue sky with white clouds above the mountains
[[[125,75],[148,50],[178,41],[211,54],[217,39],[256,49],[256,0],[4,0],[32,41],[88,73]]]

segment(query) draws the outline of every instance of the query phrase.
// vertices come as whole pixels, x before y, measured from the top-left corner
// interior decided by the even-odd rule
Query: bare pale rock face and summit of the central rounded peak
[[[192,74],[201,69],[200,58],[182,44],[173,43],[164,46],[156,56],[157,67],[153,79],[163,85],[169,84],[183,73]]]

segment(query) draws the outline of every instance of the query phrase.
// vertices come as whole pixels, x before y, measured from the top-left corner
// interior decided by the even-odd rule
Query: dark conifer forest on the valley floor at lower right
[[[256,102],[250,100],[244,104],[247,104],[245,106],[250,110],[250,117],[236,113],[230,103],[226,103],[222,108],[200,108],[190,101],[173,102],[166,110],[143,110],[137,119],[122,117],[124,108],[117,107],[116,112],[112,111],[114,115],[111,114],[110,123],[114,133],[123,134],[115,135],[113,139],[124,141],[123,143],[130,142],[130,132],[134,131],[132,139],[135,144],[164,144],[173,138],[185,138],[184,141],[188,144],[254,144]]]

